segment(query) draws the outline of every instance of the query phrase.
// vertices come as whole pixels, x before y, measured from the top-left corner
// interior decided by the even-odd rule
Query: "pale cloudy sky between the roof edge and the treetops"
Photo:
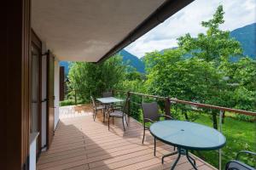
[[[147,52],[176,47],[177,37],[188,32],[195,37],[199,32],[205,32],[201,21],[212,18],[219,4],[224,6],[225,12],[222,30],[232,31],[256,22],[256,0],[195,0],[125,50],[140,58]]]

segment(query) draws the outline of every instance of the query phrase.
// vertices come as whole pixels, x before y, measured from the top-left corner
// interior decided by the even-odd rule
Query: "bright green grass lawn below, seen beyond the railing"
[[[198,119],[195,120],[200,124],[212,127],[211,117],[207,114],[200,114]],[[236,153],[240,150],[251,150],[256,152],[256,123],[255,122],[243,122],[233,117],[225,117],[223,124],[223,133],[227,139],[227,143],[224,146],[222,153],[222,168],[227,161],[235,159]],[[218,153],[216,151],[201,151],[195,152],[195,155],[200,156],[203,160],[209,162],[214,167],[218,167]],[[242,158],[243,156],[241,156]],[[255,157],[243,160],[247,163],[256,166]]]

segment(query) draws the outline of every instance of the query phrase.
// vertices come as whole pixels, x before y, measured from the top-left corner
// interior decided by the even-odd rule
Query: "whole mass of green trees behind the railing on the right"
[[[244,58],[230,63],[232,56],[241,56],[242,49],[230,37],[230,31],[219,29],[223,23],[224,11],[220,5],[211,20],[201,23],[207,28],[206,33],[197,37],[188,33],[177,38],[178,48],[166,50],[164,54],[146,54],[148,94],[254,111],[255,62]],[[218,111],[209,113],[213,127],[217,128]]]

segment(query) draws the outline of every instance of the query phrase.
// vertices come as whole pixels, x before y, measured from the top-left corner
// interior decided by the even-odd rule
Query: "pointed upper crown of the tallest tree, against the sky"
[[[216,65],[219,65],[220,61],[229,61],[231,56],[241,56],[240,42],[230,37],[230,31],[219,29],[223,23],[224,10],[223,6],[219,5],[211,20],[201,22],[201,26],[207,28],[207,32],[200,33],[197,37],[191,37],[188,33],[177,38],[179,47],[188,55],[207,62],[214,61]]]

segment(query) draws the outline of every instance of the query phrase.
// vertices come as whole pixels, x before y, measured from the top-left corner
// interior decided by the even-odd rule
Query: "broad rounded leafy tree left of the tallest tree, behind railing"
[[[222,81],[214,62],[197,57],[187,59],[183,56],[181,48],[157,54],[153,62],[154,67],[151,68],[145,83],[149,94],[195,102],[205,101],[207,93],[217,95],[214,94],[213,88],[208,89],[210,86],[218,88]],[[210,81],[206,82],[207,78]],[[188,118],[186,107],[182,105],[180,108]]]

